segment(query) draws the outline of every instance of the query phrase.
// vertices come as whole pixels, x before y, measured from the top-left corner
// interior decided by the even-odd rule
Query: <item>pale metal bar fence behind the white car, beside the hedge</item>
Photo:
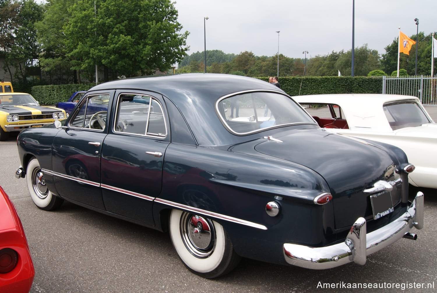
[[[437,77],[420,76],[383,76],[382,93],[395,95],[413,95],[423,105],[437,106]]]

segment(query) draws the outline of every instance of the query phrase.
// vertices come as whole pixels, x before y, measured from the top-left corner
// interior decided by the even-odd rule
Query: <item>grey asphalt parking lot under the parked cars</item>
[[[428,108],[431,108],[428,110]],[[427,106],[437,121],[437,106]],[[53,212],[33,204],[20,165],[16,136],[0,142],[7,192],[24,226],[35,265],[32,293],[52,292],[436,292],[437,190],[424,189],[425,224],[416,241],[400,239],[354,263],[323,271],[243,259],[229,275],[207,280],[179,260],[168,233],[114,219],[70,203]],[[411,193],[417,190],[411,190]],[[412,194],[410,194],[410,198]],[[323,284],[336,288],[323,289]],[[347,289],[348,284],[379,289]],[[399,284],[396,288],[396,284]],[[425,288],[417,286],[424,284]],[[430,284],[431,288],[427,288]],[[402,286],[407,289],[402,290]],[[414,286],[409,288],[408,286]]]

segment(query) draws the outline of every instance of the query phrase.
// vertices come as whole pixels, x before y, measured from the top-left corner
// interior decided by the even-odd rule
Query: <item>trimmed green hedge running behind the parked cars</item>
[[[268,78],[259,78],[267,81]],[[279,83],[288,95],[382,93],[382,77],[283,77]],[[87,91],[95,84],[38,85],[32,87],[31,94],[41,105],[55,105],[65,102],[73,92]]]

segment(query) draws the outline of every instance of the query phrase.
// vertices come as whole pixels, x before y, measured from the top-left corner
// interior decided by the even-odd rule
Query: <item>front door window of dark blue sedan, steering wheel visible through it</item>
[[[109,94],[89,95],[70,119],[70,127],[103,131],[108,114]]]

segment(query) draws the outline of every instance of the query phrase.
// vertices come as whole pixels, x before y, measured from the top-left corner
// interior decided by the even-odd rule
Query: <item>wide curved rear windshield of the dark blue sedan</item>
[[[279,125],[314,123],[296,102],[276,92],[247,92],[216,102],[222,123],[233,133],[244,135]]]

